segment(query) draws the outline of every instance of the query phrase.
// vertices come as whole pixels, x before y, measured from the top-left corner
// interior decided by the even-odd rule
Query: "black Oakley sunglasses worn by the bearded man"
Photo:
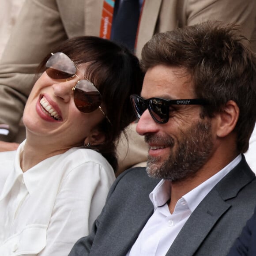
[[[158,124],[165,124],[169,120],[171,105],[207,105],[205,99],[166,100],[162,98],[143,99],[136,94],[130,96],[134,112],[138,118],[148,109],[151,117]]]

